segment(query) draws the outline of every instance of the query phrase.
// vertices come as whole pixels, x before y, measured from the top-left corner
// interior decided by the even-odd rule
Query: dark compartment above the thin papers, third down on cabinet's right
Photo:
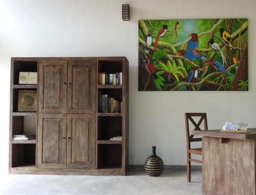
[[[97,140],[122,136],[122,117],[98,117]]]

